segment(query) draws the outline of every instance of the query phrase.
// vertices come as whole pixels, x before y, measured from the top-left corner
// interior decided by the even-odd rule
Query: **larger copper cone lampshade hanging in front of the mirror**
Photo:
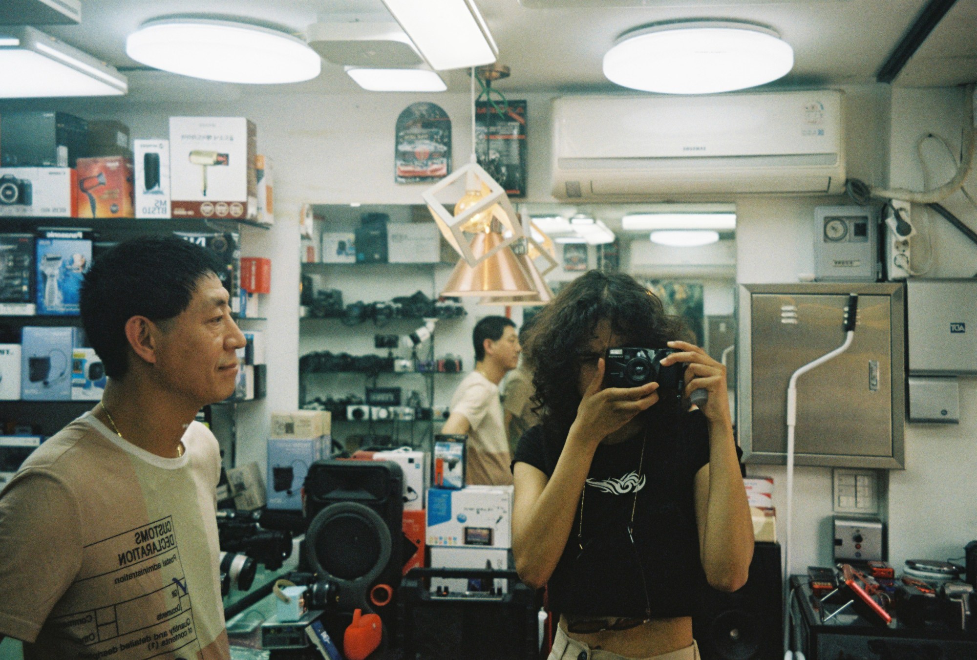
[[[476,257],[492,253],[488,259],[469,266],[464,259],[447,278],[443,296],[530,296],[536,293],[531,276],[512,250],[496,247],[504,239],[495,231],[486,231],[475,236],[471,251]]]

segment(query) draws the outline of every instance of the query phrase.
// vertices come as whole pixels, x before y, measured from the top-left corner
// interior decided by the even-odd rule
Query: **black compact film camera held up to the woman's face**
[[[674,349],[640,349],[627,347],[609,349],[604,371],[604,387],[637,388],[646,383],[658,383],[658,397],[676,405],[685,391],[685,362],[662,366],[661,360]],[[701,406],[708,400],[708,392],[696,390],[689,400]]]

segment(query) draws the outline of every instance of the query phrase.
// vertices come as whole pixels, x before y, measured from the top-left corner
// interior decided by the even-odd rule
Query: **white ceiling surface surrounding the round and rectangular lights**
[[[773,87],[871,83],[928,0],[476,0],[498,43],[499,62],[512,76],[505,92],[613,92],[601,72],[616,37],[653,21],[716,18],[755,21],[793,47],[793,70]],[[163,16],[238,18],[301,34],[316,21],[389,18],[380,0],[82,0],[79,25],[39,26],[64,42],[120,68],[139,66],[125,55],[125,37],[143,21]],[[977,80],[977,2],[958,0],[904,69],[896,85],[945,86]],[[200,83],[169,73],[129,72],[135,95],[199,90],[229,98],[234,85]],[[448,89],[466,91],[467,76],[452,71]],[[342,67],[322,62],[319,78],[280,93],[359,91]],[[261,90],[254,90],[259,92]]]

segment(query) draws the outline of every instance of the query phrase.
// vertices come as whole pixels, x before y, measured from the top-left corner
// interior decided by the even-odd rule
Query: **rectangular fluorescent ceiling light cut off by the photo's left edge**
[[[0,29],[0,70],[0,99],[108,97],[129,90],[115,67],[33,27]]]

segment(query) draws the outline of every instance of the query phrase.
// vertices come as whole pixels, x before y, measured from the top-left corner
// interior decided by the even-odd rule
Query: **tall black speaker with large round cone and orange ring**
[[[305,480],[305,568],[336,583],[341,612],[375,611],[388,627],[404,565],[403,493],[390,461],[317,461]]]

